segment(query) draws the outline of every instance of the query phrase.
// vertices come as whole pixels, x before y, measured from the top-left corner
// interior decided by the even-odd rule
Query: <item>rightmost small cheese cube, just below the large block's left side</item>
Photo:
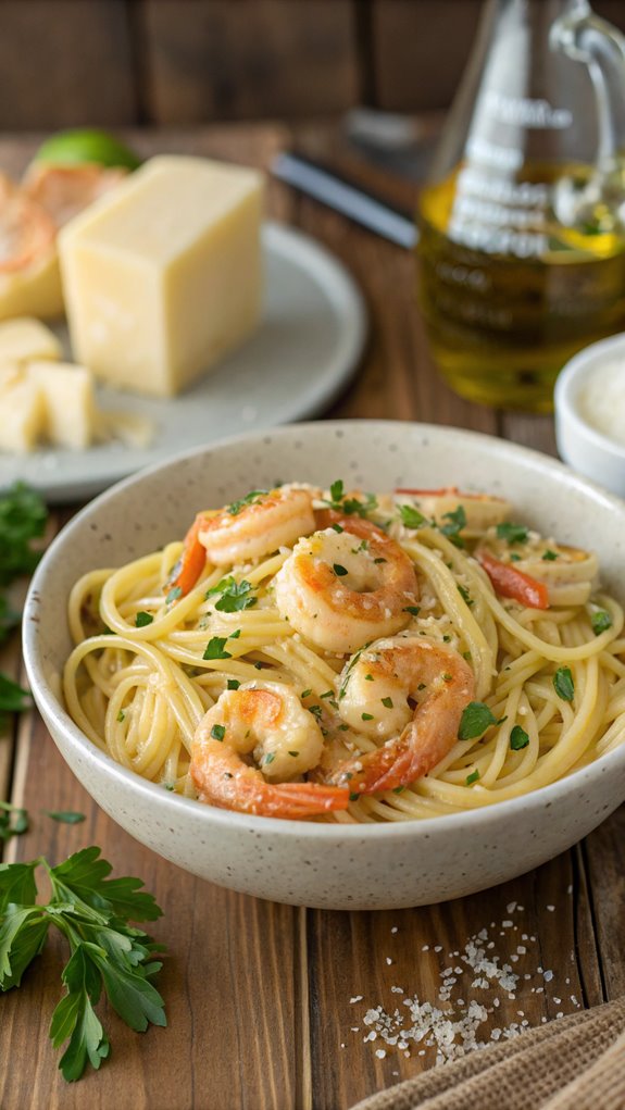
[[[58,447],[88,447],[95,423],[91,372],[68,362],[31,362],[26,375],[43,397],[46,438]]]

